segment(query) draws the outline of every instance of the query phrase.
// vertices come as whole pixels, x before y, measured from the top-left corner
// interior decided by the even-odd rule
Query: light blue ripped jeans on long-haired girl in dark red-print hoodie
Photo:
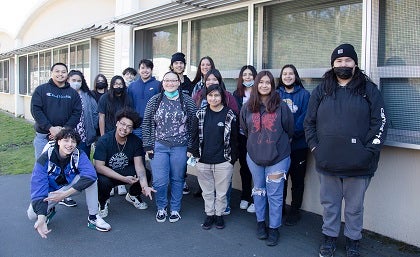
[[[278,228],[281,226],[283,188],[290,166],[290,156],[272,166],[259,166],[251,160],[248,154],[246,155],[246,161],[254,181],[252,196],[257,222],[265,221],[268,207],[268,226]]]

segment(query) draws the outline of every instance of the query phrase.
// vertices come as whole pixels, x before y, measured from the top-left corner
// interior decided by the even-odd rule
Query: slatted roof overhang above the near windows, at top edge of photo
[[[166,19],[177,18],[200,11],[250,2],[249,0],[172,0],[171,3],[116,18],[112,22],[133,26],[144,26]]]

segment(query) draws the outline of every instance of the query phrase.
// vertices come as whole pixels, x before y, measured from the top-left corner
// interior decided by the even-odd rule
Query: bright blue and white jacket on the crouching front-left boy
[[[31,178],[31,202],[37,215],[47,215],[48,202],[44,199],[49,192],[54,192],[65,185],[57,185],[55,179],[60,175],[61,168],[58,157],[58,146],[51,148],[38,158],[32,171]],[[73,166],[76,164],[76,169]],[[64,175],[70,184],[76,175],[80,179],[72,186],[77,191],[82,191],[95,183],[97,179],[96,170],[89,158],[83,151],[77,148],[72,153],[68,163],[64,167]],[[68,185],[67,184],[67,185]]]

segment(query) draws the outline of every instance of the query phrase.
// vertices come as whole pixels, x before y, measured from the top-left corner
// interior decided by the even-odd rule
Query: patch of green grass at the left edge
[[[0,111],[0,175],[31,173],[34,166],[33,125]]]

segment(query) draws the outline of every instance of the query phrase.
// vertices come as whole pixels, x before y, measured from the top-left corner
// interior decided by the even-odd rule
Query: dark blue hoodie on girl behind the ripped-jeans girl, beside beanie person
[[[286,92],[284,87],[280,87],[277,91],[281,99],[289,106],[295,120],[295,130],[291,142],[292,151],[307,148],[303,121],[308,109],[310,93],[300,85],[295,85],[291,93]]]

